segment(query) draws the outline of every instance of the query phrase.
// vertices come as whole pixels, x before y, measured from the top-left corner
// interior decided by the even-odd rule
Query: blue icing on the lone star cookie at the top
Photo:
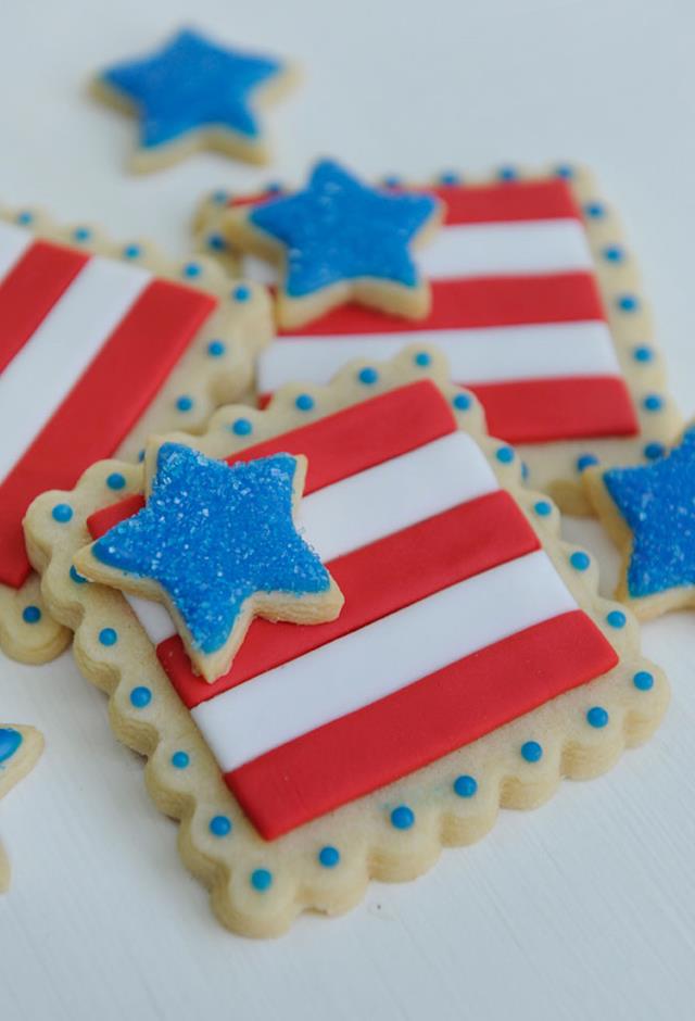
[[[153,148],[204,127],[260,136],[251,101],[283,65],[217,46],[190,28],[156,53],[108,67],[101,80],[134,103],[142,146]]]

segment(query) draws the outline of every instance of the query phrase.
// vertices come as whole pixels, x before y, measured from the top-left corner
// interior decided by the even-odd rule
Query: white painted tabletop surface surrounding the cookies
[[[85,96],[92,68],[194,22],[298,59],[267,172],[199,156],[124,172],[132,124]],[[316,154],[424,177],[581,160],[628,223],[673,388],[695,396],[695,16],[690,0],[16,0],[0,7],[0,194],[182,253],[215,187],[299,179]],[[597,526],[570,522],[606,564]],[[47,751],[0,810],[2,1021],[685,1019],[695,997],[695,620],[644,628],[671,678],[658,735],[606,778],[375,884],[350,916],[275,943],[229,935],[180,865],[176,828],[70,654],[0,663],[0,718]]]

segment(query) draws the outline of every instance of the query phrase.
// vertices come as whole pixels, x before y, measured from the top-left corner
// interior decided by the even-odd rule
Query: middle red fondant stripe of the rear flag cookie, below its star
[[[596,281],[589,273],[433,280],[431,287],[432,310],[426,319],[408,322],[348,304],[301,329],[283,330],[282,336],[325,337],[330,343],[333,336],[412,333],[417,341],[422,330],[606,318]]]

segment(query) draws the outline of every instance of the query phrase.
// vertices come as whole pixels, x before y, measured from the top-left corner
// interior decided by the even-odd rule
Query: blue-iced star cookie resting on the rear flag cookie
[[[434,197],[371,188],[321,160],[302,191],[230,210],[224,229],[232,245],[280,264],[278,320],[292,329],[351,300],[427,315],[429,285],[410,245],[440,219]]]

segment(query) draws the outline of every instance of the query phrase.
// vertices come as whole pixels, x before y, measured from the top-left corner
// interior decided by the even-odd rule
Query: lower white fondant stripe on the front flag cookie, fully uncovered
[[[401,609],[192,709],[223,772],[577,608],[543,552]]]

